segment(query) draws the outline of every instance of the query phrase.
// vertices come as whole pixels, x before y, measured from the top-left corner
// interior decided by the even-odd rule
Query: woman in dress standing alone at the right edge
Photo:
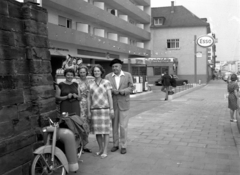
[[[238,90],[239,86],[237,84],[237,75],[231,75],[231,81],[228,83],[228,108],[230,109],[231,122],[237,122],[237,117],[234,119],[234,113],[238,115]]]

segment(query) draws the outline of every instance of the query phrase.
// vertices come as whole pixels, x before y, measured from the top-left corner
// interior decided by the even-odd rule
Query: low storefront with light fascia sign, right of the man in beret
[[[146,59],[146,65],[147,80],[150,84],[154,84],[154,82],[159,79],[164,72],[174,75],[177,75],[178,72],[178,60],[173,57],[148,58]]]

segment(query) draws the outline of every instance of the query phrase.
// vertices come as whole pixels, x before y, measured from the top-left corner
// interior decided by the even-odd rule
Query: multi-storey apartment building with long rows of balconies
[[[150,56],[150,0],[42,0],[42,6],[53,73],[68,54],[107,72],[114,58]]]

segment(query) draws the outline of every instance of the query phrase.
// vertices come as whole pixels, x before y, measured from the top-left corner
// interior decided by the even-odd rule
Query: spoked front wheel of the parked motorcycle
[[[54,156],[54,165],[51,167],[51,154],[36,155],[32,162],[31,175],[66,175],[66,170],[59,159]]]

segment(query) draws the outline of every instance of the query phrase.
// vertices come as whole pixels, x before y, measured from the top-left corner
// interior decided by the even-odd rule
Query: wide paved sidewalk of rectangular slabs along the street
[[[131,99],[127,154],[111,153],[110,143],[106,159],[85,153],[77,174],[239,175],[239,133],[225,92],[226,83],[215,80],[168,102],[159,93]],[[93,135],[88,147],[97,151]]]

